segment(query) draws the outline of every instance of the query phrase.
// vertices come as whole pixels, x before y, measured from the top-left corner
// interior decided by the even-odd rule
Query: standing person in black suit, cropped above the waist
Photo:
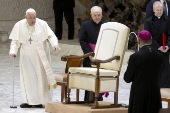
[[[74,38],[74,11],[75,0],[53,0],[55,15],[55,35],[59,40],[62,39],[63,13],[68,25],[68,39]]]

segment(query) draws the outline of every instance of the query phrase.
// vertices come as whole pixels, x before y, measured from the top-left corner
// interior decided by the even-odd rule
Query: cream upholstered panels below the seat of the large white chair
[[[69,88],[95,92],[96,77],[93,75],[73,73],[69,76]],[[99,92],[116,92],[117,78],[100,78]]]

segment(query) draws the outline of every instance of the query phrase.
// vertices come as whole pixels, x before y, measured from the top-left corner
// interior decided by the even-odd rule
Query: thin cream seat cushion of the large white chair
[[[69,72],[71,73],[85,73],[96,76],[97,68],[91,67],[70,67]],[[106,69],[99,69],[99,76],[117,76],[118,71],[115,70],[106,70]]]

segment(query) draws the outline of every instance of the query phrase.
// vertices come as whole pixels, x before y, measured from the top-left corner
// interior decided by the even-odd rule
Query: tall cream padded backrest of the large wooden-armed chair
[[[125,49],[128,42],[130,29],[118,22],[102,24],[94,50],[94,59],[106,60],[112,56],[119,55],[120,60],[113,60],[109,63],[102,63],[100,68],[120,71]]]

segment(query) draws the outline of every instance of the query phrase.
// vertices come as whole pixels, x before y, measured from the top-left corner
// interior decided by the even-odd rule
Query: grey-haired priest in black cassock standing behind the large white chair
[[[96,44],[100,27],[105,21],[102,21],[102,9],[99,6],[93,6],[91,8],[92,20],[85,21],[81,24],[80,28],[80,45],[84,54],[93,52],[90,48],[90,44]],[[85,58],[83,61],[84,67],[91,67],[89,58]],[[94,101],[94,93],[85,91],[84,101]],[[99,100],[103,100],[102,94],[99,95]]]

